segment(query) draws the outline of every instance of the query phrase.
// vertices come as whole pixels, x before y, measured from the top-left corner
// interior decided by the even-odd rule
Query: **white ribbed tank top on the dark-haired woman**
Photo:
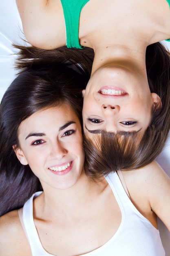
[[[159,231],[135,208],[126,194],[117,173],[110,173],[106,180],[121,210],[121,224],[107,243],[84,256],[165,256]],[[23,222],[33,256],[54,256],[46,252],[40,242],[33,221],[33,198],[24,204]],[[83,241],[82,241],[83,243]]]

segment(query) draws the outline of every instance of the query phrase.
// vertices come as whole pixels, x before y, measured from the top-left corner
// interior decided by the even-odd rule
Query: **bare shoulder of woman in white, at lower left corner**
[[[0,217],[0,254],[4,256],[31,255],[29,243],[18,216],[18,210]]]

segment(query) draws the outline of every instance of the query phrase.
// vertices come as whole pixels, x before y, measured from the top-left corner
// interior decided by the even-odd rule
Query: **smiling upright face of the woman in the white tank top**
[[[63,104],[34,113],[19,126],[15,153],[29,164],[42,186],[67,189],[84,170],[81,124],[74,110]]]

